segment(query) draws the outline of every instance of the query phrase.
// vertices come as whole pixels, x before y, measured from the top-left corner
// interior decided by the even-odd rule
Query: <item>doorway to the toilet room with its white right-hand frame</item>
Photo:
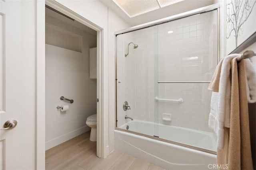
[[[46,150],[90,137],[92,127],[103,158],[103,30],[60,4],[46,7]]]

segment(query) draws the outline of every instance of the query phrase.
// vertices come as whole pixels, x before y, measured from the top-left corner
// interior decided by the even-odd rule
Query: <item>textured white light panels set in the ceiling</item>
[[[113,0],[130,18],[183,0]]]

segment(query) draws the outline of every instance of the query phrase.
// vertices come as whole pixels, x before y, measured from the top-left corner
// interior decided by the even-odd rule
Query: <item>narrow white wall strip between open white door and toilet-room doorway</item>
[[[21,119],[20,169],[35,169],[36,166],[36,2],[21,1]],[[19,28],[15,28],[19,29]],[[14,49],[16,50],[16,49]],[[14,118],[15,119],[15,118]],[[8,150],[6,150],[8,152]],[[8,154],[6,154],[8,156]]]

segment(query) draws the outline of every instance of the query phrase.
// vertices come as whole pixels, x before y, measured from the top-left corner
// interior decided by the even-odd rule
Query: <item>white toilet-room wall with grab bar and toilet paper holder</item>
[[[46,23],[82,37],[82,52],[46,45],[46,150],[90,130],[86,118],[96,113],[96,80],[89,78],[89,48],[96,47],[96,35],[46,15]],[[46,29],[46,42],[69,39],[51,35]],[[52,39],[48,40],[47,34]],[[66,37],[68,38],[68,37]],[[60,42],[61,42],[60,41]],[[65,43],[67,45],[67,43]],[[61,46],[62,44],[60,44]],[[76,49],[76,48],[75,48]],[[70,104],[60,96],[73,99]],[[56,106],[69,105],[61,112]],[[54,130],[53,130],[54,129]]]

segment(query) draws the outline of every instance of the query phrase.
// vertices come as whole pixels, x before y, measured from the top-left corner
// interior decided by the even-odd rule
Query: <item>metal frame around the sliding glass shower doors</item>
[[[159,25],[159,24],[166,23],[166,22],[169,22],[169,21],[178,20],[178,19],[185,18],[185,17],[188,17],[188,16],[201,14],[201,13],[204,13],[204,12],[210,12],[210,11],[213,11],[213,10],[217,10],[217,63],[219,63],[219,61],[220,61],[220,4],[219,3],[212,4],[212,5],[209,5],[209,6],[205,6],[205,7],[202,7],[202,8],[198,8],[198,9],[195,9],[195,10],[191,10],[191,11],[188,11],[188,12],[184,12],[184,13],[181,13],[181,14],[177,14],[177,15],[174,15],[174,16],[170,16],[170,17],[167,17],[167,18],[163,18],[163,19],[160,19],[160,20],[156,20],[156,21],[144,23],[144,24],[141,24],[141,25],[137,25],[137,26],[134,26],[134,27],[130,27],[128,29],[123,29],[123,30],[120,30],[120,31],[116,31],[114,33],[114,35],[115,35],[115,71],[116,71],[115,72],[115,74],[116,74],[116,78],[115,78],[116,79],[116,83],[115,83],[115,92],[116,92],[116,95],[115,95],[115,118],[116,118],[115,129],[116,130],[125,131],[125,132],[128,132],[128,133],[134,133],[136,135],[149,137],[151,139],[156,139],[156,140],[159,140],[159,141],[164,141],[164,142],[167,142],[167,143],[172,143],[172,144],[175,144],[175,145],[180,145],[180,146],[191,148],[191,149],[201,150],[203,152],[208,152],[208,153],[211,153],[211,154],[217,154],[217,152],[213,151],[213,150],[194,147],[194,146],[191,146],[191,145],[186,145],[186,144],[178,143],[178,142],[175,142],[175,141],[169,141],[169,140],[162,139],[162,138],[159,138],[159,137],[154,137],[154,136],[146,135],[146,134],[143,134],[143,133],[133,132],[133,131],[129,131],[129,130],[121,129],[121,128],[117,127],[117,88],[116,88],[116,86],[117,86],[117,69],[116,69],[117,68],[117,53],[116,53],[116,47],[117,47],[117,42],[116,42],[117,38],[116,37],[117,37],[117,35],[132,32],[132,31],[136,31],[136,30],[139,30],[139,29],[144,29],[144,28],[147,28],[147,27],[151,27],[153,25]]]

